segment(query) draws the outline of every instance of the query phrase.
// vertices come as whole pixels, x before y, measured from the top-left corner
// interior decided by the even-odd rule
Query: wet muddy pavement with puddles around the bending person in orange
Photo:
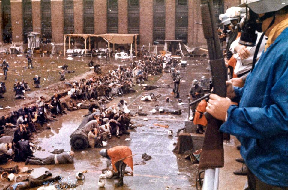
[[[198,59],[198,60],[197,60]],[[108,142],[107,148],[126,145],[129,146],[134,156],[134,163],[142,160],[141,155],[147,153],[152,156],[152,159],[146,161],[145,165],[134,166],[134,176],[125,176],[125,185],[121,188],[115,188],[113,179],[106,179],[105,189],[196,189],[195,173],[196,166],[193,166],[189,160],[185,160],[185,155],[177,155],[172,152],[175,148],[174,143],[177,142],[176,131],[184,127],[184,120],[187,117],[187,97],[189,93],[191,81],[202,76],[208,77],[210,73],[206,71],[208,61],[206,58],[197,58],[188,60],[187,68],[179,68],[182,76],[180,86],[180,97],[183,99],[184,105],[180,106],[177,99],[170,94],[172,91],[172,82],[170,73],[164,73],[155,85],[162,86],[152,91],[141,91],[139,93],[129,94],[123,97],[128,102],[128,108],[136,112],[138,106],[143,106],[143,111],[148,113],[146,116],[149,120],[143,121],[144,116],[136,116],[132,121],[138,126],[135,130],[131,130],[130,135],[123,135],[120,139],[112,138]],[[156,102],[141,102],[142,95],[148,95],[151,92],[161,94],[162,96]],[[166,102],[166,97],[169,97],[173,102]],[[113,100],[112,103],[118,102],[119,99]],[[182,115],[170,114],[152,114],[150,112],[156,105],[167,106],[173,109],[182,109]],[[88,110],[79,110],[69,112],[67,115],[59,118],[58,121],[52,122],[50,130],[44,130],[35,135],[37,146],[41,146],[41,150],[35,152],[37,157],[46,157],[50,155],[54,149],[70,150],[69,136],[79,126],[82,121],[82,116],[87,114]],[[154,126],[153,124],[168,124],[169,128]],[[167,131],[172,129],[173,136],[167,136]],[[130,138],[130,141],[125,141]],[[106,167],[106,158],[99,155],[100,148],[86,149],[77,151],[74,157],[74,164],[59,164],[50,166],[29,166],[29,169],[34,168],[32,175],[40,176],[45,170],[53,173],[53,176],[58,174],[64,177],[64,181],[76,182],[75,173],[78,171],[87,170],[85,180],[78,182],[78,187],[75,189],[104,189],[99,188],[97,181],[101,174],[101,169]],[[11,162],[1,167],[12,167],[18,164],[20,167],[24,163]],[[126,170],[131,170],[126,167]],[[37,188],[35,188],[37,189]]]

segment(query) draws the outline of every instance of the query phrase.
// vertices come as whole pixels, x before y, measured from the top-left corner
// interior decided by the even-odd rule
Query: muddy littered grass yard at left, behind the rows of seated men
[[[95,75],[94,69],[88,67],[88,62],[91,59],[94,60],[94,62],[98,60],[101,63],[102,71],[104,73],[107,73],[110,69],[116,69],[119,64],[123,64],[115,61],[113,64],[105,64],[104,59],[98,59],[96,57],[73,57],[74,60],[67,60],[64,59],[63,56],[59,56],[57,54],[52,57],[49,55],[45,55],[44,57],[34,55],[34,69],[28,69],[27,58],[25,55],[17,57],[16,55],[0,54],[0,57],[0,63],[3,62],[3,59],[6,59],[10,66],[7,74],[7,80],[4,80],[3,70],[0,68],[0,80],[5,82],[7,88],[7,92],[4,93],[5,98],[0,99],[0,105],[4,108],[0,110],[0,115],[6,115],[13,110],[18,110],[23,106],[29,106],[32,103],[35,103],[37,98],[40,96],[44,96],[46,100],[49,100],[53,93],[66,92],[70,88],[65,84],[65,82],[72,82],[74,80],[79,81],[81,78],[88,78]],[[51,62],[54,63],[51,64]],[[58,72],[61,69],[58,68],[58,66],[62,66],[64,63],[68,65],[68,70],[75,70],[75,73],[67,73],[65,75],[67,80],[60,81],[60,74]],[[41,77],[41,88],[34,88],[34,80],[32,80],[32,78],[34,78],[35,75]],[[32,91],[25,92],[25,100],[15,100],[13,85],[16,83],[16,81],[22,81],[22,79],[28,82]],[[7,106],[11,108],[6,108]]]

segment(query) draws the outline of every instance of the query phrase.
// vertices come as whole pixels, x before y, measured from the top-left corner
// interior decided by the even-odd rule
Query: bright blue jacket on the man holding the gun
[[[229,107],[220,131],[237,137],[252,173],[288,187],[288,28],[263,52]]]

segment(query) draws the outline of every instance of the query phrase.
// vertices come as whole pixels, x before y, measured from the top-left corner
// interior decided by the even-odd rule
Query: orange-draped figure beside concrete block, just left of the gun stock
[[[207,107],[207,101],[202,100],[196,108],[195,116],[193,119],[194,125],[198,125],[196,133],[203,134],[205,132],[203,126],[207,125],[207,119],[204,115],[206,107]]]

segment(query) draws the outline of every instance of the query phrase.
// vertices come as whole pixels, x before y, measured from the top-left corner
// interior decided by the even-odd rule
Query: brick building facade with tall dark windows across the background
[[[241,0],[214,0],[215,15]],[[67,21],[69,19],[69,21]],[[196,22],[196,23],[195,23]],[[66,33],[139,33],[140,45],[182,39],[205,46],[200,0],[2,0],[0,44],[25,44],[26,33],[40,32],[63,45]]]

